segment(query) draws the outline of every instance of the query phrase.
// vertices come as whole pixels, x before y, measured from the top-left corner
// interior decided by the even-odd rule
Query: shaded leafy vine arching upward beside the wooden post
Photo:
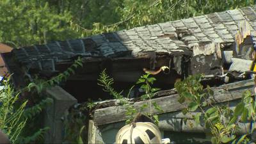
[[[45,88],[60,84],[62,81],[66,81],[69,76],[75,74],[75,70],[78,67],[83,67],[83,60],[80,57],[77,58],[77,60],[75,60],[67,70],[57,76],[46,81],[44,79],[36,78],[33,83],[29,83],[28,86],[16,92],[17,95],[21,92],[30,92],[30,98],[36,96],[36,101],[33,102],[34,105],[30,107],[27,106],[28,108],[24,109],[22,113],[22,118],[26,118],[26,120],[29,121],[29,125],[24,127],[23,135],[20,137],[20,143],[35,143],[36,141],[42,143],[44,141],[44,133],[49,130],[49,127],[42,128],[41,126],[38,126],[42,124],[40,124],[40,120],[37,120],[38,118],[40,119],[41,116],[37,115],[42,113],[44,108],[47,108],[47,106],[52,104],[53,100],[51,98],[44,98],[42,96],[42,91],[45,90]]]

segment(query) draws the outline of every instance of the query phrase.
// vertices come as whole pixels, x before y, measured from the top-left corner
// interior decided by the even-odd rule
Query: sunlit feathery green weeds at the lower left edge
[[[19,94],[13,95],[14,90],[9,80],[4,82],[4,88],[0,93],[0,129],[8,134],[12,143],[19,143],[20,133],[26,125],[27,119],[23,118],[27,101],[15,109]]]

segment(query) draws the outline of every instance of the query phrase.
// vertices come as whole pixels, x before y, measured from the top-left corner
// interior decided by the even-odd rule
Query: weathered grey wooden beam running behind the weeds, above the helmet
[[[242,97],[245,90],[252,90],[253,92],[254,82],[253,79],[246,81],[239,81],[237,83],[224,84],[218,88],[212,88],[214,91],[214,101],[215,103],[227,102],[230,100],[236,100]],[[163,109],[163,113],[173,113],[175,111],[180,111],[184,109],[184,105],[178,102],[179,95],[169,95],[166,97],[159,97],[152,99],[152,102],[156,102]],[[140,109],[143,104],[149,104],[149,100],[144,100],[140,102],[134,102],[133,106],[136,109]],[[149,111],[150,109],[145,108],[144,111]],[[127,111],[126,106],[113,106],[103,109],[97,109],[94,113],[95,125],[110,124],[113,122],[121,122],[127,119],[125,112]],[[153,113],[159,113],[155,109],[152,109]],[[177,113],[177,115],[180,113]],[[181,117],[180,117],[181,118]],[[184,118],[184,117],[183,117]]]

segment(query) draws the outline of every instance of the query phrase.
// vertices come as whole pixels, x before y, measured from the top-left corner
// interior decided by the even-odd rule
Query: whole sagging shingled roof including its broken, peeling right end
[[[83,57],[85,63],[110,60],[111,68],[125,65],[116,67],[125,71],[129,71],[125,67],[131,61],[148,60],[146,64],[133,63],[130,67],[142,71],[143,68],[156,70],[166,65],[173,70],[172,78],[197,73],[213,76],[228,71],[241,73],[250,67],[248,63],[252,59],[256,40],[255,12],[256,6],[252,6],[76,40],[20,47],[3,57],[15,79],[19,79],[17,81],[31,74],[61,72],[62,66],[72,63],[77,56]],[[122,60],[129,60],[129,63]],[[232,63],[247,67],[241,70]]]

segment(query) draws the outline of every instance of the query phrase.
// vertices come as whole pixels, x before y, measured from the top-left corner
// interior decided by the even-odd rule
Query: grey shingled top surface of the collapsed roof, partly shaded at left
[[[195,50],[194,56],[198,54],[207,55],[218,51],[218,49],[210,49],[211,51],[209,51],[207,45],[211,47],[211,44],[235,42],[236,31],[240,29],[239,25],[242,25],[240,23],[243,23],[243,21],[248,22],[248,27],[253,31],[252,35],[256,35],[255,28],[253,28],[253,22],[256,19],[255,12],[255,6],[248,6],[75,40],[21,47],[17,50],[19,52],[15,52],[15,54],[18,60],[24,62],[25,65],[35,61],[35,59],[47,60],[50,55],[52,55],[50,59],[56,61],[61,59],[72,60],[74,56],[79,54],[84,57],[105,56],[113,58],[124,57],[127,52],[131,52],[131,55],[135,58],[143,51],[155,51],[160,54],[161,52],[193,51],[193,49]],[[198,50],[201,44],[204,45],[203,51]]]

